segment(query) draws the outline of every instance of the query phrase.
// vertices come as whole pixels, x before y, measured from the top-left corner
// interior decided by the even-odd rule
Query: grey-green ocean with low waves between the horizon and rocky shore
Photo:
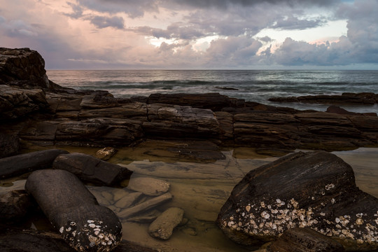
[[[72,70],[47,71],[50,80],[78,90],[108,90],[114,97],[152,93],[219,92],[228,97],[295,109],[325,111],[329,105],[274,103],[270,97],[375,92],[378,71],[333,70]],[[342,106],[378,113],[378,106]]]

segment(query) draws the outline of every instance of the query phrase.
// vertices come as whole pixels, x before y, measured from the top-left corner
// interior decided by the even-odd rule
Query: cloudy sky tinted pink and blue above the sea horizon
[[[378,69],[378,0],[0,0],[46,69]]]

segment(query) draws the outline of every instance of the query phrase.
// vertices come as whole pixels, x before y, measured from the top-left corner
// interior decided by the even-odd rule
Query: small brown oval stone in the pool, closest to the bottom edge
[[[171,207],[164,211],[148,227],[148,234],[158,239],[169,239],[177,225],[183,220],[183,209]]]

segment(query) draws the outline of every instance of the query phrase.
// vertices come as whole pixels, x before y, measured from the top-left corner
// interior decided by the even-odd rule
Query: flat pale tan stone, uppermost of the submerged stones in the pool
[[[170,184],[167,181],[152,178],[132,178],[127,189],[144,193],[145,195],[159,196],[167,193]]]

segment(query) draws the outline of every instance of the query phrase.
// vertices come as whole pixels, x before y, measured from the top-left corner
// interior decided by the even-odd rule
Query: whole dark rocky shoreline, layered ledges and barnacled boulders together
[[[341,98],[307,97],[306,101],[339,104],[335,101],[365,99],[366,103],[377,102],[376,98],[377,94],[343,94]],[[294,102],[303,101],[297,98]],[[217,93],[120,99],[106,91],[61,87],[48,80],[38,52],[0,48],[0,132],[0,178],[32,172],[25,186],[27,193],[0,195],[1,207],[10,213],[3,218],[8,224],[0,227],[0,245],[5,251],[71,251],[69,246],[77,251],[153,251],[120,241],[118,218],[135,218],[172,200],[169,183],[148,177],[129,181],[135,167],[81,153],[51,149],[19,154],[23,146],[103,148],[159,139],[191,142],[169,147],[188,160],[222,159],[219,146],[249,146],[271,155],[298,148],[323,150],[290,154],[246,174],[223,206],[219,227],[247,246],[274,241],[266,251],[285,251],[290,242],[302,240],[298,238],[301,233],[316,238],[297,251],[378,249],[377,198],[358,190],[351,167],[325,152],[378,146],[375,113],[348,113],[332,106],[327,112],[298,111]],[[287,177],[290,184],[281,183]],[[83,182],[123,188],[118,188],[118,196],[111,196],[112,200],[117,197],[119,207],[101,207],[99,202],[106,200],[106,193],[87,190]],[[13,225],[36,205],[55,226],[55,235],[21,231]],[[169,207],[160,214],[144,216],[144,221],[152,222],[148,231],[152,237],[169,239],[178,225],[185,225],[184,216],[182,209]],[[329,237],[334,239],[329,241]],[[15,239],[22,243],[16,244]],[[35,242],[44,245],[32,250]],[[323,248],[319,244],[330,245]]]

